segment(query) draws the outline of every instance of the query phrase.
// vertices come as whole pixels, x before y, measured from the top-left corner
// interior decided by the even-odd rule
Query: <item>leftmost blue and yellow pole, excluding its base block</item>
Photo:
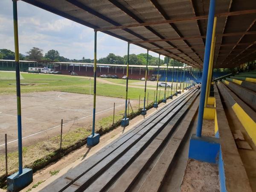
[[[20,104],[20,58],[18,39],[18,18],[17,1],[13,0],[13,25],[15,44],[15,65],[16,65],[16,93],[17,93],[17,125],[18,125],[18,153],[19,153],[19,175],[22,174],[22,128],[21,128],[21,104]]]

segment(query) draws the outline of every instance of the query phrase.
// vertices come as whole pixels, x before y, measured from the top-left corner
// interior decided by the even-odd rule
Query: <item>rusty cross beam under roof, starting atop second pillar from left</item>
[[[218,13],[218,14],[215,14],[215,17],[227,17],[227,16],[245,15],[245,14],[253,14],[253,13],[256,13],[256,9],[236,11],[236,12]],[[145,22],[145,23],[104,27],[104,28],[98,28],[95,30],[96,31],[109,31],[109,30],[114,30],[114,29],[125,29],[125,28],[132,28],[132,27],[138,27],[138,26],[150,26],[150,25],[158,25],[158,24],[164,24],[164,23],[178,23],[178,22],[185,22],[185,21],[192,21],[192,20],[202,20],[202,19],[207,19],[207,18],[208,18],[208,15],[195,16],[195,17],[183,17],[183,18],[178,18],[178,19],[159,20],[159,21],[152,21],[152,22]]]

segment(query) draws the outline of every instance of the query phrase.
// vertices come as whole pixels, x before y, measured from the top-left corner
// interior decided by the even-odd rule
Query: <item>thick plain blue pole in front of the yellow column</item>
[[[207,87],[207,72],[209,68],[209,56],[210,56],[211,43],[212,43],[214,12],[215,12],[215,0],[210,0],[206,44],[205,44],[205,51],[204,51],[204,67],[203,67],[203,76],[202,76],[202,85],[201,85],[201,96],[200,96],[199,109],[198,109],[198,124],[196,129],[197,137],[201,137],[201,134],[202,134],[204,101],[205,101],[205,94],[206,94],[206,87]]]

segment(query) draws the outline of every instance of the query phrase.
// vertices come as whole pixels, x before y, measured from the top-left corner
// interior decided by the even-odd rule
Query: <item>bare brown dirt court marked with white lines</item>
[[[23,146],[32,145],[63,132],[90,125],[93,116],[93,96],[58,91],[22,94]],[[96,120],[124,110],[125,99],[96,96]],[[131,105],[137,101],[131,101]],[[0,96],[0,153],[4,152],[4,134],[7,133],[8,151],[17,149],[16,96]]]

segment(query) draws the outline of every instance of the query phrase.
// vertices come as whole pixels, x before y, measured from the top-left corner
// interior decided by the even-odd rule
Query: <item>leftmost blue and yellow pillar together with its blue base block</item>
[[[17,0],[12,1],[13,5],[13,26],[15,44],[15,66],[16,66],[16,95],[17,95],[17,132],[18,132],[18,172],[7,177],[7,189],[11,192],[20,191],[33,180],[32,169],[22,166],[22,127],[21,127],[21,100],[20,100],[20,59],[19,59],[19,38],[18,38],[18,17]]]

